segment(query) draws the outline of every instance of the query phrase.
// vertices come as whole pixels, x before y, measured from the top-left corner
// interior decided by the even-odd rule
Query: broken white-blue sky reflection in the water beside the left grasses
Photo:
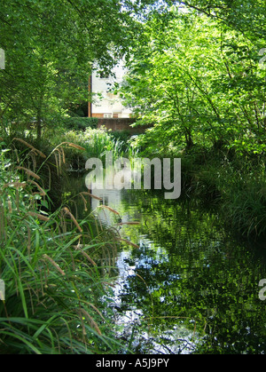
[[[138,352],[144,353],[189,353],[194,348],[192,342],[193,333],[184,326],[173,326],[168,330],[162,330],[156,334],[153,333],[153,327],[149,331],[145,331],[142,327],[142,322],[145,319],[145,313],[142,309],[131,305],[129,310],[121,309],[121,296],[127,294],[129,288],[129,278],[136,277],[137,269],[144,268],[151,270],[154,265],[159,265],[162,262],[168,262],[168,254],[166,249],[155,247],[153,241],[148,240],[145,236],[140,236],[140,254],[137,258],[132,258],[131,251],[122,251],[117,258],[117,267],[119,270],[118,279],[115,281],[113,289],[113,313],[115,323],[121,330],[117,336],[125,339],[130,339],[134,335],[134,341],[131,347]],[[153,251],[153,257],[150,255]],[[132,261],[135,265],[131,265]],[[162,281],[156,287],[150,287],[147,292],[153,293],[160,286],[168,285],[171,281],[179,279],[179,275],[171,273],[168,275],[167,281]],[[160,301],[164,302],[165,297],[161,296]],[[146,321],[146,320],[145,320]],[[176,341],[178,341],[176,343]]]

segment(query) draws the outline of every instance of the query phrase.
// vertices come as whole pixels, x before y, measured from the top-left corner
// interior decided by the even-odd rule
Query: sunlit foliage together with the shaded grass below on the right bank
[[[138,123],[153,123],[133,146],[181,156],[186,193],[222,202],[235,231],[263,235],[265,2],[167,3],[141,25],[121,85]]]

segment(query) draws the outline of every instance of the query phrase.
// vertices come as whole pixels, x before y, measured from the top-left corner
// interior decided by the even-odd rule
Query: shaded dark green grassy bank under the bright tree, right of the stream
[[[246,237],[266,233],[266,180],[263,156],[194,148],[182,158],[183,194],[215,205],[226,226]]]

